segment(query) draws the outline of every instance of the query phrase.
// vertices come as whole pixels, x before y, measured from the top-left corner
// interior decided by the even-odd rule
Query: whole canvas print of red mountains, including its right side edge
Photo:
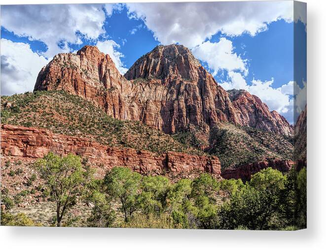
[[[305,3],[0,9],[1,226],[306,228]]]

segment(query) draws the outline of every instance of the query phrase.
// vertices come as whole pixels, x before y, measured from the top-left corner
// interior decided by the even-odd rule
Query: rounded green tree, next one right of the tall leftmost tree
[[[140,184],[141,175],[123,167],[114,167],[104,178],[105,190],[121,202],[126,222],[140,208]]]

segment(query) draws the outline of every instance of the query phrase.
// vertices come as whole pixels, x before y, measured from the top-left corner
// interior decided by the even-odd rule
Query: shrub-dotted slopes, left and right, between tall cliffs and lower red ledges
[[[168,135],[137,121],[112,118],[101,108],[65,91],[35,91],[3,96],[1,101],[1,124],[44,128],[110,147],[211,154],[220,159],[222,169],[266,159],[292,159],[291,137],[231,123],[219,123],[210,134],[192,128]]]

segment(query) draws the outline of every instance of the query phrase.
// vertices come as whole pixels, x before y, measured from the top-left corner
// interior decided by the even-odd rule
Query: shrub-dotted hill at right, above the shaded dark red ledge
[[[224,123],[211,129],[208,152],[217,155],[225,169],[263,160],[292,159],[292,143],[287,136]]]

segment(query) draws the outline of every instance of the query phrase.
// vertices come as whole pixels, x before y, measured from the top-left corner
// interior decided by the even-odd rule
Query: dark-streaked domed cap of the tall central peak
[[[205,71],[191,51],[179,44],[158,45],[138,59],[126,72],[129,80],[155,77],[198,79],[200,71]]]

